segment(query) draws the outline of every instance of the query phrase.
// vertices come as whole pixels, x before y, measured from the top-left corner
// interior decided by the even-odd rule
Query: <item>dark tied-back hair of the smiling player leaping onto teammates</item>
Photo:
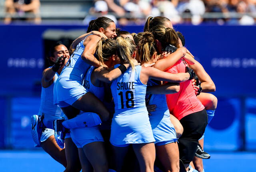
[[[90,21],[89,26],[87,28],[87,33],[89,33],[90,31],[98,31],[100,27],[106,29],[107,27],[109,27],[111,22],[114,21],[107,17],[99,17],[95,20],[92,20]]]

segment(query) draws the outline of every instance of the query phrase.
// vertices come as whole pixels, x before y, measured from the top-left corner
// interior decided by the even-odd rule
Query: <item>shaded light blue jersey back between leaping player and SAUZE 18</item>
[[[104,86],[102,84],[102,86],[97,87],[94,86],[92,84],[91,81],[91,76],[92,76],[92,72],[94,71],[94,66],[91,66],[87,73],[86,76],[84,78],[84,88],[86,89],[86,91],[93,93],[98,99],[100,99],[100,101],[103,101],[104,99]]]

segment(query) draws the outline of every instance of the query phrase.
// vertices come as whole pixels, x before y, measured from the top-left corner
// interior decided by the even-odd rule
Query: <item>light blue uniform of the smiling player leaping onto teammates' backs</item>
[[[90,65],[81,58],[84,48],[83,40],[76,46],[54,86],[54,104],[60,107],[72,105],[87,92],[82,82]]]

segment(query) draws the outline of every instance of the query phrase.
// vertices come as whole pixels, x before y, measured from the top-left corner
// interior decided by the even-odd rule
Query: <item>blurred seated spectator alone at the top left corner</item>
[[[40,23],[39,8],[39,0],[6,0],[6,18],[4,19],[4,23],[9,24],[12,20],[28,20]],[[32,16],[27,17],[29,14]]]

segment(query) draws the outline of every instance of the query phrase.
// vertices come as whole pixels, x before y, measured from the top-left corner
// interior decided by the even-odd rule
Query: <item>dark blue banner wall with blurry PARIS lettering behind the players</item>
[[[174,26],[186,39],[186,47],[204,66],[216,84],[216,95],[256,95],[256,26]],[[81,29],[83,25],[0,25],[2,50],[1,94],[40,93],[44,66],[45,31]],[[142,26],[122,28],[140,32]]]

